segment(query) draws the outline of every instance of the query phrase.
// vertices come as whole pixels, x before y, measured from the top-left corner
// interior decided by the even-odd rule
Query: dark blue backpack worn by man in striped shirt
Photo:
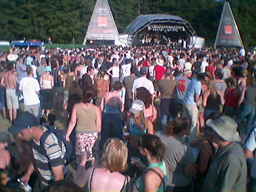
[[[64,165],[70,164],[75,159],[75,151],[73,149],[72,144],[70,142],[66,141],[64,134],[56,126],[46,126],[46,128],[48,130],[46,132],[44,132],[44,134],[40,138],[40,149],[41,149],[42,155],[45,157],[48,157],[46,154],[46,150],[44,148],[44,143],[45,143],[46,138],[48,138],[48,136],[53,133],[53,134],[55,134],[55,136],[58,139],[58,144],[60,145],[63,142],[66,147],[66,154],[65,154],[66,162],[64,163]],[[61,146],[60,146],[60,148],[61,148]]]

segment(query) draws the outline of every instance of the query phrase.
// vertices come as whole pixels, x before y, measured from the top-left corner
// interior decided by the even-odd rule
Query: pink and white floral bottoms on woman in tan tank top
[[[88,160],[98,159],[99,140],[98,132],[76,133],[76,163],[80,163],[85,150],[90,153]]]

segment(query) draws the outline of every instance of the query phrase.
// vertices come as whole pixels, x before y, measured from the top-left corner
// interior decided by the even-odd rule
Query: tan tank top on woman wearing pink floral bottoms
[[[80,104],[78,104],[76,116],[76,133],[97,132],[96,106],[89,109],[85,109]]]

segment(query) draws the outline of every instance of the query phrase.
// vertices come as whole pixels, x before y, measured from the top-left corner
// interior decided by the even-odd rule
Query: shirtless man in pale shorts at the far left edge
[[[17,109],[19,108],[19,100],[16,95],[16,74],[13,73],[13,64],[7,65],[7,72],[1,78],[0,85],[6,86],[6,103],[9,110],[10,122],[14,123],[17,117]]]

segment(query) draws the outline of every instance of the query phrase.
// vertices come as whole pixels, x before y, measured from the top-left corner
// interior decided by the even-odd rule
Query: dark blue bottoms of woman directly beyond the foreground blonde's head
[[[122,118],[119,113],[102,113],[102,130],[100,149],[103,150],[103,145],[109,138],[118,138],[122,140]]]

